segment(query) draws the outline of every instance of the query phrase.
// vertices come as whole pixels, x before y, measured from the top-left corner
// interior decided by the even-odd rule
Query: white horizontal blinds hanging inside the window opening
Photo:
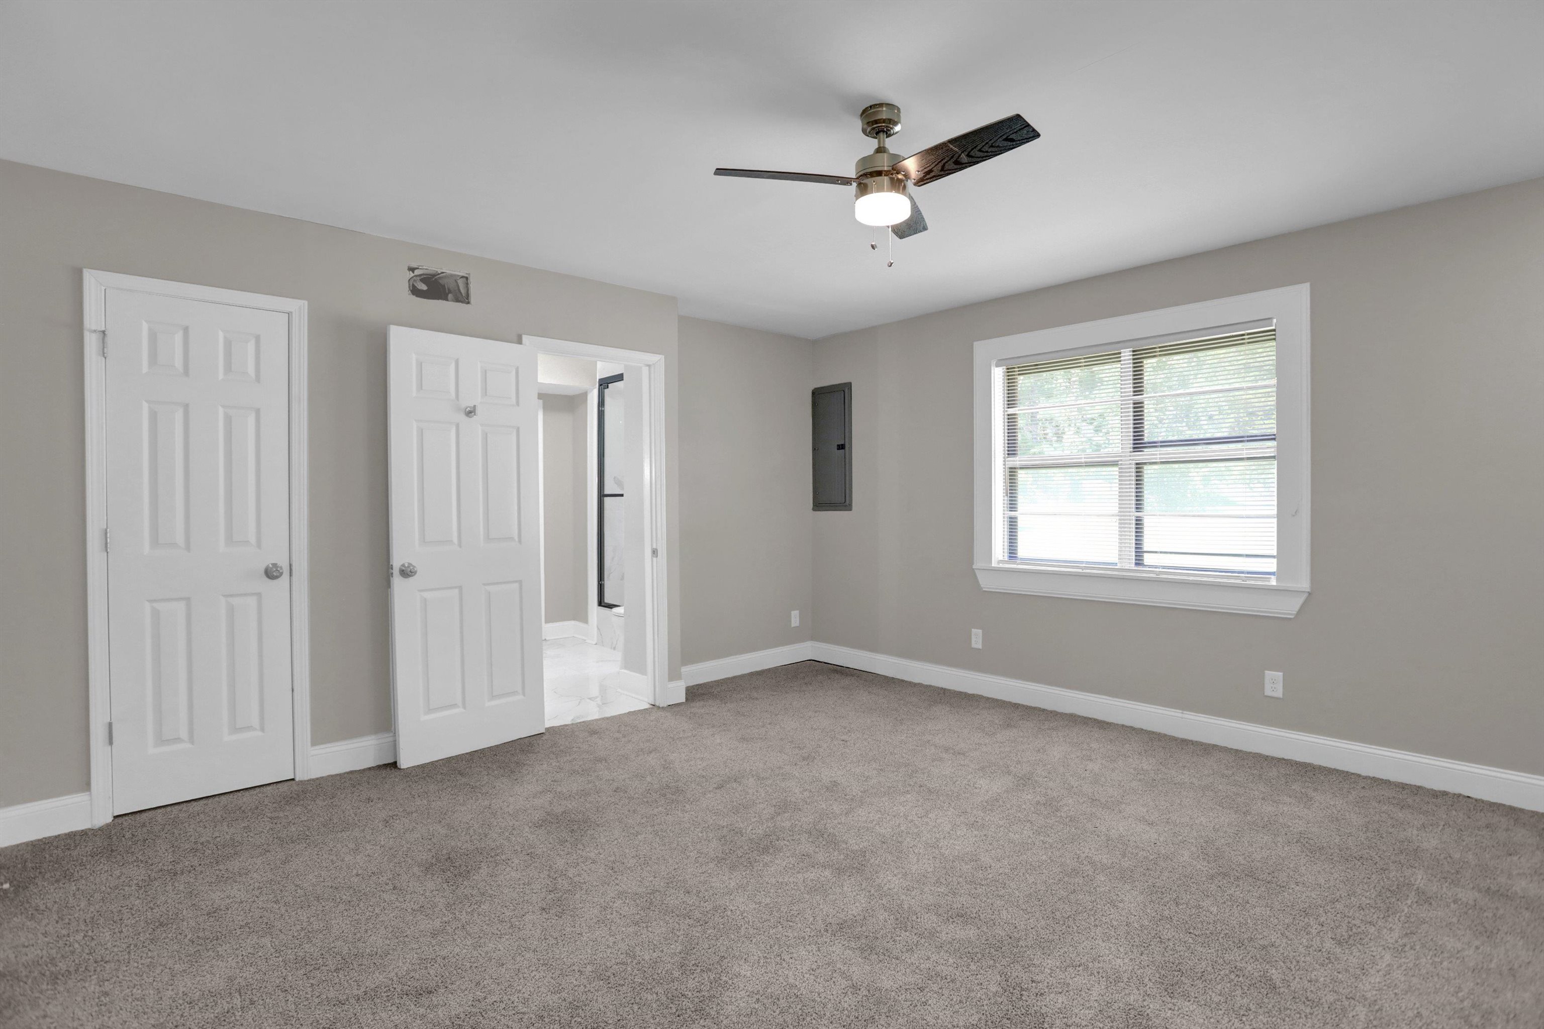
[[[1275,580],[1274,329],[1001,375],[999,560]]]

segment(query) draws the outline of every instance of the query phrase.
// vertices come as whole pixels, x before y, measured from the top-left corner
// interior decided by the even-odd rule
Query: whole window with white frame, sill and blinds
[[[1306,312],[1302,285],[976,344],[982,586],[1295,614]]]

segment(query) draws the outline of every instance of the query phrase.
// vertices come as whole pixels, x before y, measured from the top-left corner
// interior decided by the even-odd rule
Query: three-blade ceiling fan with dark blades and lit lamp
[[[897,239],[928,231],[917,201],[908,187],[937,182],[956,171],[979,165],[1041,137],[1039,131],[1021,114],[982,125],[945,139],[906,159],[900,159],[885,147],[885,140],[900,131],[900,108],[894,103],[869,103],[858,114],[863,134],[879,140],[874,153],[858,157],[851,176],[808,174],[803,171],[757,171],[752,168],[715,168],[713,174],[740,179],[781,179],[784,182],[826,182],[829,185],[855,185],[857,199],[852,213],[865,225],[888,225]]]

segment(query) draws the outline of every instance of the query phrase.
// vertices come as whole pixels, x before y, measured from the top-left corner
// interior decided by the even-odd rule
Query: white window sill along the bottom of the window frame
[[[1308,599],[1308,589],[1300,586],[1002,565],[976,565],[976,580],[982,589],[991,592],[1147,603],[1160,608],[1265,614],[1277,619],[1291,619]]]

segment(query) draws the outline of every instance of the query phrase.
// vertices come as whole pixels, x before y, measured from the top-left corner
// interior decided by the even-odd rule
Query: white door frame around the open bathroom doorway
[[[670,702],[670,565],[665,549],[669,534],[665,532],[665,376],[664,355],[647,353],[644,350],[622,350],[619,347],[602,347],[593,342],[573,342],[570,339],[550,339],[547,336],[520,336],[520,342],[537,353],[562,353],[571,358],[590,358],[591,361],[615,361],[618,364],[636,364],[644,370],[644,389],[639,390],[644,400],[644,489],[647,503],[644,504],[644,546],[650,548],[652,557],[644,560],[644,595],[645,617],[648,625],[648,699],[655,707]],[[594,396],[594,392],[590,393]],[[587,417],[594,417],[594,406],[587,404]],[[594,426],[588,426],[591,437],[588,458],[594,457]],[[598,472],[588,469],[590,484],[594,484]],[[594,631],[594,504],[590,508],[590,538],[585,549],[590,552],[590,628]]]

